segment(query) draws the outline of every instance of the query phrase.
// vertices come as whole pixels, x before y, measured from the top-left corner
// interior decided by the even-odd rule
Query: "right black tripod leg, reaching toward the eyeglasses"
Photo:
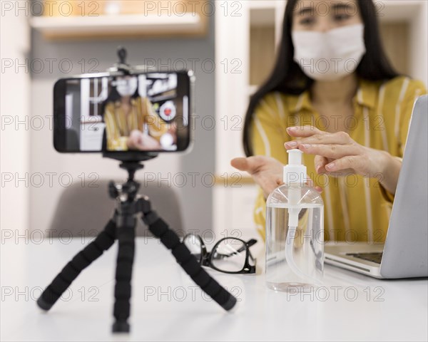
[[[143,222],[148,225],[148,229],[153,235],[161,239],[165,247],[171,250],[178,264],[195,281],[195,284],[200,286],[223,309],[226,311],[232,309],[236,304],[235,297],[200,266],[195,256],[190,253],[185,244],[180,242],[178,235],[168,227],[168,224],[161,217],[158,217],[155,211],[151,210],[148,198],[138,199],[138,203],[141,212],[143,212]]]

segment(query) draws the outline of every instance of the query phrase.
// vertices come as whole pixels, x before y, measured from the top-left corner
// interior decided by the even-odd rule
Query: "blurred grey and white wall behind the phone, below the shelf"
[[[16,6],[21,1],[10,2]],[[185,227],[211,229],[212,188],[209,177],[208,186],[201,177],[213,175],[215,162],[214,130],[202,125],[205,117],[214,118],[215,114],[214,18],[208,17],[208,31],[200,37],[51,41],[30,28],[29,17],[24,10],[16,15],[16,8],[4,11],[1,17],[1,58],[13,63],[1,76],[1,115],[11,116],[13,121],[1,130],[1,172],[13,178],[9,181],[6,175],[1,187],[1,228],[44,232],[49,229],[58,197],[71,182],[92,186],[101,178],[126,177],[118,162],[103,159],[101,154],[59,154],[54,150],[51,127],[54,82],[73,74],[105,71],[118,61],[116,48],[122,45],[132,65],[150,63],[163,71],[195,69],[198,118],[194,120],[193,148],[185,153],[164,153],[146,162],[137,177],[142,180],[148,172],[150,180],[158,177],[163,186],[178,185]],[[15,115],[27,124],[16,125]],[[183,177],[176,177],[178,173],[185,175],[185,185]],[[16,182],[18,177],[23,180]]]

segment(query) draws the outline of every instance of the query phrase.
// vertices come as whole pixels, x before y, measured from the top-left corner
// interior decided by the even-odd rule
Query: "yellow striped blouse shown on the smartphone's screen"
[[[121,108],[121,102],[111,102],[104,110],[104,122],[106,123],[107,150],[128,150],[126,142],[132,130],[144,131],[147,125],[148,134],[156,140],[168,131],[165,123],[154,112],[148,98],[132,98],[131,112],[126,116]]]

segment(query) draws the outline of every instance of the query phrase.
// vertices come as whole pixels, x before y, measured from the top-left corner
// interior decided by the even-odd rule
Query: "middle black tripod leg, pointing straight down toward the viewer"
[[[116,261],[116,286],[114,288],[113,332],[127,333],[131,311],[131,278],[135,250],[135,202],[123,202],[118,213],[118,259]]]

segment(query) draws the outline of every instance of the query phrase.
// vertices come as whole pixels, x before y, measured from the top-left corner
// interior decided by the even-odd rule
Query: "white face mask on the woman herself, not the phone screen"
[[[364,25],[327,32],[293,31],[294,60],[317,81],[335,81],[353,73],[365,54]]]

